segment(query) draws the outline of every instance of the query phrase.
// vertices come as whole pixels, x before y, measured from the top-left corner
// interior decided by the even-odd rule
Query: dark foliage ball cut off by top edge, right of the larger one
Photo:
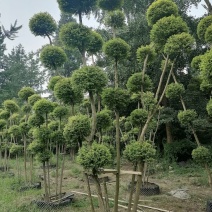
[[[98,5],[101,9],[107,11],[113,11],[121,9],[124,0],[99,0]]]

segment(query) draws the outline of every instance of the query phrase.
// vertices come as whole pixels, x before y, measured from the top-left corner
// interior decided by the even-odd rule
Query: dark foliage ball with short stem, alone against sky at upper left
[[[52,44],[51,37],[57,29],[56,21],[47,12],[35,14],[29,20],[29,28],[35,36],[48,37],[50,44]]]

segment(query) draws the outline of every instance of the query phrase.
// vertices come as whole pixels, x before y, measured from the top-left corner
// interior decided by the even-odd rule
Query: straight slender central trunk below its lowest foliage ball
[[[117,174],[116,174],[116,191],[115,191],[115,198],[114,198],[114,212],[118,212],[121,156],[120,156],[119,112],[116,111],[115,114],[116,114],[116,160],[117,160],[116,169],[117,169]]]

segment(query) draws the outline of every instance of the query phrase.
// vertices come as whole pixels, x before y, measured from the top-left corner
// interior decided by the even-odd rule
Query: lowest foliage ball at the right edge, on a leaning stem
[[[192,158],[200,164],[211,163],[212,155],[204,146],[199,146],[192,151]]]

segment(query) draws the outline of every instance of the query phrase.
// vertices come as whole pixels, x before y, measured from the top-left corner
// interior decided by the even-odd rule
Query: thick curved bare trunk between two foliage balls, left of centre
[[[96,132],[97,118],[96,118],[96,106],[95,106],[94,96],[92,92],[89,92],[89,97],[90,97],[91,110],[92,110],[92,123],[91,123],[91,133],[88,137],[88,142],[89,144],[91,144]]]

